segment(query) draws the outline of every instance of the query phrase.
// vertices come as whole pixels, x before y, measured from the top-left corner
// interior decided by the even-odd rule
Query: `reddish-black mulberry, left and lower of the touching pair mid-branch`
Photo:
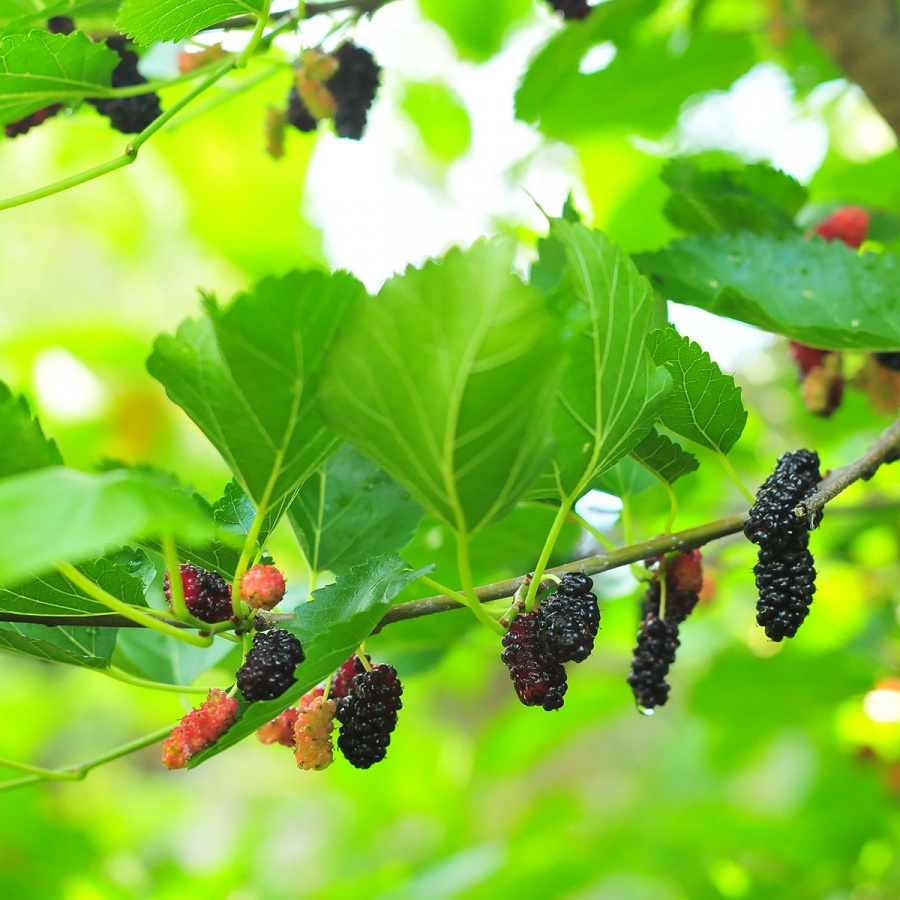
[[[516,616],[503,635],[500,659],[509,669],[519,700],[548,712],[563,705],[568,684],[566,670],[551,660],[541,647],[538,613]]]

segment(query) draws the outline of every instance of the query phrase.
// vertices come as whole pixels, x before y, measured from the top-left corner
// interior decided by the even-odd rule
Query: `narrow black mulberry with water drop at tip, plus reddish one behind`
[[[703,587],[700,551],[679,553],[668,562],[664,610],[659,574],[647,585],[641,603],[641,627],[627,678],[638,709],[648,713],[664,706],[669,698],[666,676],[680,644],[678,629],[694,611]]]

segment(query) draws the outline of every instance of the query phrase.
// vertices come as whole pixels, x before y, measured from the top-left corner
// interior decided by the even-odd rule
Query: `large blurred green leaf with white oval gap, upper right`
[[[698,32],[684,49],[668,35],[632,39],[633,23],[657,6],[611,0],[580,27],[560,31],[532,60],[516,93],[516,117],[566,141],[610,128],[661,137],[691,95],[729,87],[756,62],[747,35]],[[612,62],[580,72],[585,54],[606,41],[616,45]]]

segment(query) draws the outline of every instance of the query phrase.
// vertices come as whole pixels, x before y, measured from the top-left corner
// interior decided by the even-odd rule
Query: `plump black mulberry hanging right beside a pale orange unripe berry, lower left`
[[[347,696],[338,701],[338,749],[357,769],[368,769],[387,755],[402,693],[397,670],[380,665],[354,676]]]

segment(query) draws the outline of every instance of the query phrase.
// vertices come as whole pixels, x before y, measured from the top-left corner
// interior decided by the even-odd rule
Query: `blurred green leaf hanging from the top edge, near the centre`
[[[495,0],[486,11],[481,0],[419,0],[419,9],[447,32],[460,56],[483,62],[500,50],[503,36],[528,14],[531,2]]]

